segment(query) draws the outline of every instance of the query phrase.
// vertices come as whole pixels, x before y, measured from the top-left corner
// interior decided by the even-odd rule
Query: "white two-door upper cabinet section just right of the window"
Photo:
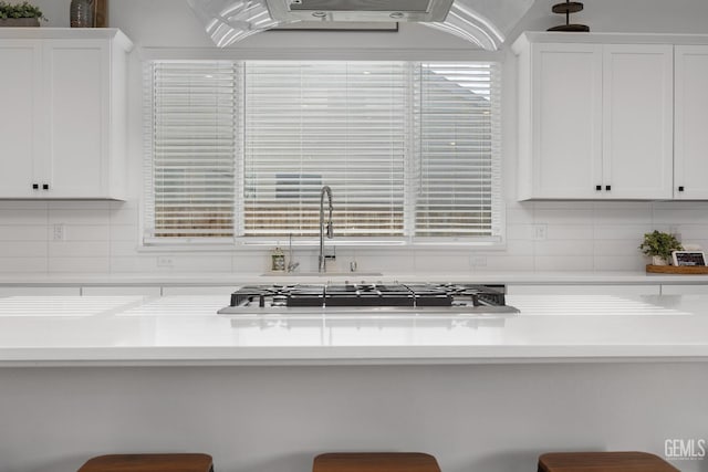
[[[603,41],[514,43],[520,200],[671,198],[673,46]]]

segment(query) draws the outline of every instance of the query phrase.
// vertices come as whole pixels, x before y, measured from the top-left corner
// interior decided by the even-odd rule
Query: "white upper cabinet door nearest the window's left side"
[[[45,43],[51,91],[50,158],[44,175],[53,198],[103,196],[108,188],[111,63],[108,42],[54,40]]]

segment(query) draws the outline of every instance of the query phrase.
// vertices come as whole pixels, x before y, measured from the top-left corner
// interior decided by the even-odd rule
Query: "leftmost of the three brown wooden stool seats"
[[[79,472],[214,472],[208,454],[111,454],[90,459]]]

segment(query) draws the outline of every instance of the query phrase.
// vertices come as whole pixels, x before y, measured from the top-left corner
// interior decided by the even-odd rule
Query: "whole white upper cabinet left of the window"
[[[115,29],[0,30],[0,198],[124,198],[131,49]]]

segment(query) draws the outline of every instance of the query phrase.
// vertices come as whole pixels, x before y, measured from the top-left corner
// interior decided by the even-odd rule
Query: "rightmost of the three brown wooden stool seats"
[[[550,452],[539,457],[539,472],[679,472],[647,452]]]

